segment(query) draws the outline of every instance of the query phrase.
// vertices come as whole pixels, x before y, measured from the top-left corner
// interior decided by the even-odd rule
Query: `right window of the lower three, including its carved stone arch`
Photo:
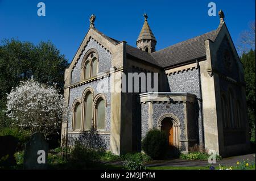
[[[106,115],[106,97],[98,94],[94,98],[94,129],[97,131],[105,131],[105,115]]]

